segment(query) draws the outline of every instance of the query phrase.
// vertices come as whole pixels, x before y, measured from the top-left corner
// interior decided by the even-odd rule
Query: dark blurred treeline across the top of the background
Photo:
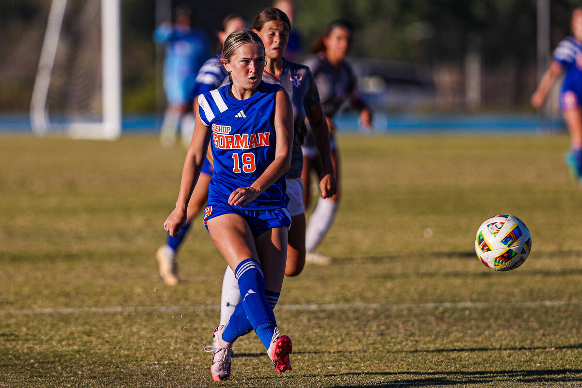
[[[50,3],[0,2],[0,33],[5,37],[0,45],[0,111],[28,109]],[[208,31],[215,44],[226,14],[239,13],[251,23],[255,13],[272,2],[190,0],[173,1],[172,6],[178,3],[191,5],[194,24]],[[356,26],[352,56],[406,60],[431,68],[460,63],[468,49],[477,47],[484,66],[531,64],[536,58],[536,4],[536,0],[296,0],[294,27],[301,33],[304,54],[325,24],[346,18]],[[569,34],[575,5],[574,0],[551,1],[552,47]],[[155,10],[155,0],[122,0],[126,111],[155,109],[159,72],[151,38]]]

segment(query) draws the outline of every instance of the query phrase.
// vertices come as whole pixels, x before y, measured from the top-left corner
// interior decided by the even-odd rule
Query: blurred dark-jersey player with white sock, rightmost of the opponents
[[[313,264],[329,264],[331,258],[315,252],[315,248],[331,227],[333,217],[338,207],[340,195],[340,169],[338,145],[334,141],[335,126],[333,116],[338,113],[343,103],[349,99],[352,106],[360,111],[361,125],[370,130],[372,126],[372,111],[364,104],[356,86],[356,77],[352,68],[346,62],[346,55],[352,43],[352,24],[346,20],[336,20],[330,23],[315,41],[311,52],[313,56],[305,64],[311,69],[320,92],[321,105],[327,120],[331,136],[331,156],[335,179],[338,182],[338,193],[331,198],[319,198],[313,213],[311,213],[306,232],[306,261]],[[321,174],[320,158],[314,146],[313,136],[308,132],[303,143],[303,173],[301,178],[305,186],[305,205],[310,201],[310,172],[315,170]]]

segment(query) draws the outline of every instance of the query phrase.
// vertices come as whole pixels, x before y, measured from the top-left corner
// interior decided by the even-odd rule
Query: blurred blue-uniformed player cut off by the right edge
[[[540,109],[558,76],[565,72],[560,109],[570,131],[571,149],[565,162],[570,173],[582,184],[582,7],[572,12],[572,35],[559,42],[552,63],[531,96],[531,105]]]

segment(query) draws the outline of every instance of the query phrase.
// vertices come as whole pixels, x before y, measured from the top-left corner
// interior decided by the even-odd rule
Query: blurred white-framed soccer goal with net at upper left
[[[38,136],[121,134],[119,0],[52,0],[30,104]]]

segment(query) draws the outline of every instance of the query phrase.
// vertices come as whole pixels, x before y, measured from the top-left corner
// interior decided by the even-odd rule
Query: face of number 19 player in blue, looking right
[[[234,84],[253,90],[261,83],[262,70],[265,69],[265,52],[258,44],[243,44],[236,49],[224,67],[230,72]]]

